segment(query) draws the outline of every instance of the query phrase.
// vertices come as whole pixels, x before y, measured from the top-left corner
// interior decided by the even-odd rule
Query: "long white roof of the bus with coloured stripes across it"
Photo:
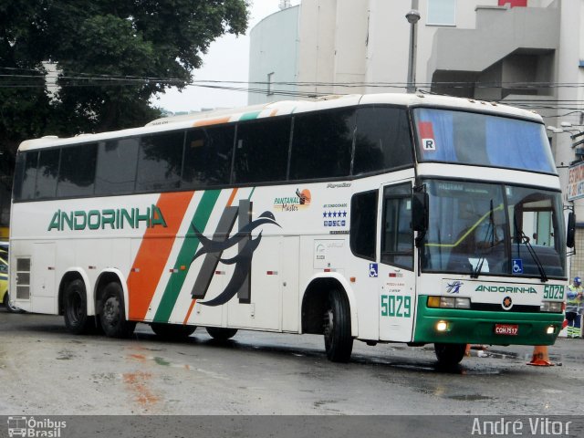
[[[166,117],[152,120],[144,127],[101,132],[98,134],[78,134],[75,137],[69,138],[45,136],[40,139],[23,141],[20,143],[18,150],[28,151],[53,146],[76,144],[80,142],[86,143],[92,141],[107,141],[110,139],[132,137],[145,133],[178,130],[197,126],[210,126],[214,124],[235,122],[239,120],[263,119],[267,117],[289,115],[293,113],[297,114],[300,112],[349,107],[358,104],[390,104],[407,107],[423,106],[451,108],[456,110],[488,112],[542,122],[541,117],[534,111],[522,110],[495,102],[486,102],[483,100],[453,98],[420,93],[385,93],[364,95],[353,94],[346,96],[328,96],[312,100],[282,100],[243,108],[197,112],[183,116]]]

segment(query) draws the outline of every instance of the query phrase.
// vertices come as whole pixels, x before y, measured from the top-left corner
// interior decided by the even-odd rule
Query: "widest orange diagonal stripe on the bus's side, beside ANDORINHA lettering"
[[[162,193],[158,198],[156,206],[162,212],[167,226],[147,228],[142,237],[128,276],[129,319],[141,321],[146,318],[193,194],[194,192]]]

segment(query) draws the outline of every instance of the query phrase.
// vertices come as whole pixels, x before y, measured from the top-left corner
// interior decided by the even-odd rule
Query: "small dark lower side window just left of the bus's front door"
[[[378,191],[355,193],[350,200],[349,244],[358,257],[375,260]]]

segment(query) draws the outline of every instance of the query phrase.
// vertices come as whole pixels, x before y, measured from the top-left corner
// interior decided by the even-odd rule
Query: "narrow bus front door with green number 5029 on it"
[[[415,275],[412,183],[382,187],[379,277],[380,340],[412,340]]]

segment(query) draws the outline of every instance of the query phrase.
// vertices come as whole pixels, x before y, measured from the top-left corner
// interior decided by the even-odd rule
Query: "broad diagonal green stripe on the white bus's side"
[[[197,209],[194,212],[193,220],[191,221],[198,230],[203,232],[204,228],[209,222],[209,217],[213,212],[215,203],[217,203],[217,198],[221,190],[207,190],[203,193],[203,198],[201,202],[197,205]],[[184,237],[183,246],[181,251],[174,263],[174,268],[179,269],[178,272],[172,274],[169,282],[164,289],[164,294],[162,295],[161,304],[156,309],[156,314],[154,315],[154,322],[168,322],[171,318],[172,309],[176,304],[176,300],[179,297],[181,288],[184,284],[184,279],[186,278],[188,269],[185,271],[180,270],[180,266],[190,266],[193,260],[194,253],[197,251],[199,246],[199,239],[197,239],[193,233],[193,229],[189,228],[189,231]]]

